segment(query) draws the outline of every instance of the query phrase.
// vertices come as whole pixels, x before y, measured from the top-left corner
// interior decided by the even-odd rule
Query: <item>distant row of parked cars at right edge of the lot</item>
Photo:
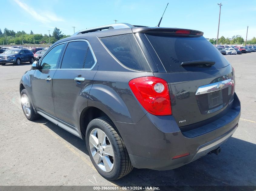
[[[216,46],[223,55],[236,55],[242,53],[251,53],[256,51],[256,45],[251,46]]]

